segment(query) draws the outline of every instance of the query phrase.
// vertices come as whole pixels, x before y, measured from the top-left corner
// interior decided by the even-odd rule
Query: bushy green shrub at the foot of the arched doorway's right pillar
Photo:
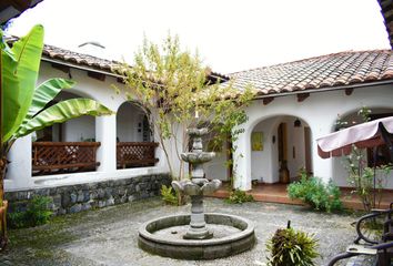
[[[328,213],[342,209],[340,190],[332,181],[325,184],[319,177],[306,177],[302,174],[301,181],[288,186],[288,194],[290,198],[299,198],[315,209]]]

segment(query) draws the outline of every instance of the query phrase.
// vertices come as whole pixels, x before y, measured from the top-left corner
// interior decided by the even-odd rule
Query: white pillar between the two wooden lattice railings
[[[98,171],[114,172],[117,170],[117,127],[115,114],[95,117],[95,140],[101,142],[97,151]]]

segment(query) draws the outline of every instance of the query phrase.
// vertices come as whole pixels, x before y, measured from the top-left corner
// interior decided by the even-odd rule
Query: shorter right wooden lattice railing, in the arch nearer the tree
[[[117,147],[118,168],[154,166],[155,142],[119,142]]]

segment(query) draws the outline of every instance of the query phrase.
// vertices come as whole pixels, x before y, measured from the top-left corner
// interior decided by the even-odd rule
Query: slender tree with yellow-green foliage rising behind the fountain
[[[234,129],[246,121],[243,106],[252,99],[251,89],[239,93],[231,82],[210,81],[211,70],[202,66],[198,53],[182,51],[178,37],[169,35],[161,47],[144,39],[134,65],[123,64],[118,71],[125,76],[129,100],[144,110],[159,137],[172,178],[184,177],[180,154],[188,150],[188,127],[209,125],[216,145],[242,132]],[[180,161],[177,172],[171,145]]]

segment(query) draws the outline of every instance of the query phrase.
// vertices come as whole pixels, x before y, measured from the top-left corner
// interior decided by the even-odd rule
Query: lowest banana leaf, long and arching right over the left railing
[[[54,123],[62,123],[81,115],[105,115],[112,113],[111,110],[94,100],[83,98],[71,99],[57,103],[36,115],[18,130],[14,137],[21,137],[33,131],[41,130]]]

